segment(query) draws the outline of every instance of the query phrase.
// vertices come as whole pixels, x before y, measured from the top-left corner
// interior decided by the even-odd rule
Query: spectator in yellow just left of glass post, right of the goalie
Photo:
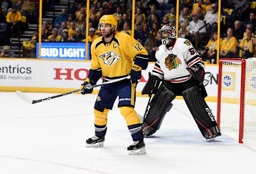
[[[215,31],[209,40],[208,44],[205,46],[205,49],[201,52],[203,61],[209,63],[217,63],[217,42],[218,42],[218,32]],[[222,38],[220,38],[220,49],[222,46]]]

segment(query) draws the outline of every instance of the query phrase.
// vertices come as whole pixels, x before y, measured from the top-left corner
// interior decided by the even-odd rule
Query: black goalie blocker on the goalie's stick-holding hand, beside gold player
[[[148,72],[148,81],[144,88],[142,89],[141,94],[148,94],[150,93],[156,94],[158,87],[160,85],[161,79],[157,76],[154,76],[152,72]]]

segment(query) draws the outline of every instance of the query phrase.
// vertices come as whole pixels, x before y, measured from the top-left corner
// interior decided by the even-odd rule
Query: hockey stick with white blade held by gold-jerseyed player
[[[102,84],[93,85],[92,88],[95,88],[95,87],[98,87],[98,86],[102,86],[102,85],[106,85],[106,84],[112,84],[114,82],[121,81],[121,80],[124,80],[124,79],[130,79],[130,78],[131,78],[130,76],[127,76],[127,77],[123,77],[123,78],[120,78],[120,79],[103,82]],[[19,90],[16,91],[16,95],[18,97],[20,97],[22,100],[24,100],[24,101],[26,101],[26,102],[28,102],[30,104],[35,104],[35,103],[44,102],[44,101],[47,101],[47,100],[52,100],[53,98],[58,98],[58,97],[62,97],[62,96],[65,96],[65,95],[74,94],[74,93],[77,93],[77,92],[81,92],[81,89],[73,90],[73,91],[68,92],[68,93],[54,95],[54,96],[43,98],[43,99],[39,99],[39,100],[32,100],[26,94],[20,92]]]

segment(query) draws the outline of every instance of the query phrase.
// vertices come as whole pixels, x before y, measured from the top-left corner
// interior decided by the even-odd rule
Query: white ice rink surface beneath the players
[[[34,100],[57,94],[26,93]],[[94,135],[96,95],[68,95],[28,104],[0,92],[0,173],[255,173],[256,146],[226,135],[205,140],[183,100],[174,100],[161,129],[145,138],[146,155],[131,156],[132,138],[117,103],[108,114],[105,147],[86,148]],[[148,98],[138,97],[143,115]],[[208,102],[216,115],[216,103]]]

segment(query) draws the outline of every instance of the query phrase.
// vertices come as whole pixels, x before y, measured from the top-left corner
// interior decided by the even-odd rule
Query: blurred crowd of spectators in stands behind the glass
[[[47,7],[51,1],[43,1]],[[86,0],[69,1],[67,9],[54,21],[43,21],[42,42],[85,42]],[[98,30],[102,15],[113,14],[118,21],[118,32],[132,34],[132,0],[90,1],[89,43],[101,36]],[[11,35],[22,31],[26,26],[17,10],[21,6],[23,16],[28,22],[38,23],[38,1],[1,1],[1,22],[9,24]],[[57,1],[54,1],[56,4]],[[61,1],[58,1],[61,4]],[[13,5],[15,4],[15,5]],[[46,4],[46,5],[45,5]],[[220,18],[220,57],[255,56],[256,1],[227,0],[221,1]],[[189,39],[204,61],[217,63],[218,1],[215,0],[180,0],[179,37]],[[141,0],[135,1],[134,38],[148,51],[150,61],[155,61],[155,52],[161,45],[159,29],[164,24],[176,26],[176,0]],[[30,49],[38,42],[38,30],[30,40]],[[29,51],[28,53],[29,54]],[[34,56],[34,55],[29,55]]]

